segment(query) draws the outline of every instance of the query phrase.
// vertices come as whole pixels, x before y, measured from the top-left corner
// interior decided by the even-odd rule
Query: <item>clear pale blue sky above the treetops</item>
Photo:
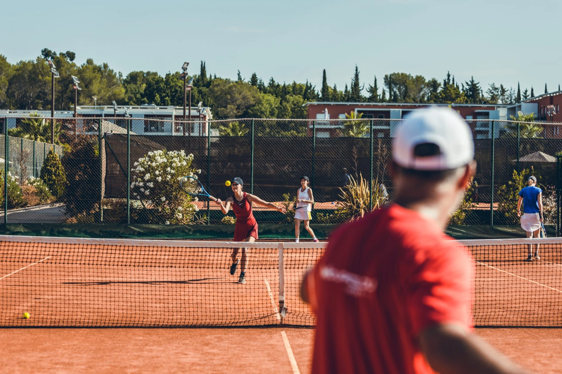
[[[42,48],[76,62],[134,70],[207,72],[235,79],[307,79],[343,89],[391,72],[495,82],[543,93],[562,83],[562,1],[204,0],[10,1],[2,5],[0,54],[15,63]]]

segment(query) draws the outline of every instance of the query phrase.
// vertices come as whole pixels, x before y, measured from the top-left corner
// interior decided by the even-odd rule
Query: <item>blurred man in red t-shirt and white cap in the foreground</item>
[[[443,234],[474,172],[472,132],[443,108],[393,142],[393,204],[330,237],[303,280],[317,318],[313,373],[525,373],[470,333],[465,248]]]

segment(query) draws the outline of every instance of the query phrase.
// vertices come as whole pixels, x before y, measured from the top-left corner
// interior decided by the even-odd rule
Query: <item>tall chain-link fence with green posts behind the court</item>
[[[15,192],[11,191],[17,188],[8,186],[7,192],[2,190],[2,201],[7,194],[8,204],[3,207],[8,214],[4,214],[4,221],[10,223],[53,219],[61,223],[219,223],[223,214],[206,200],[190,201],[186,197],[189,205],[185,205],[186,201],[170,205],[171,191],[179,191],[178,178],[183,176],[178,173],[193,173],[211,195],[223,200],[232,195],[225,181],[241,177],[245,191],[271,202],[293,201],[300,177],[308,176],[315,198],[313,220],[337,223],[342,220],[342,215],[335,214],[341,188],[351,178],[364,178],[370,183],[369,188],[372,186],[371,191],[379,192],[377,196],[388,193],[388,198],[392,198],[388,162],[392,136],[401,122],[400,119],[189,122],[121,117],[56,118],[54,123],[48,118],[34,118],[37,123],[30,126],[30,121],[29,117],[0,118],[2,132],[7,130],[10,135],[7,152],[4,137],[0,138],[0,155],[3,158],[8,155],[10,162],[5,166],[11,176],[17,177],[22,190],[31,190],[24,186],[34,181],[33,178],[48,184],[52,198],[41,201],[57,203],[58,211],[51,212],[52,217],[47,217],[49,209],[31,210],[35,212],[33,215],[16,211],[35,203],[23,198],[13,204]],[[556,155],[562,151],[562,134],[559,135],[562,124],[467,122],[474,133],[478,169],[452,223],[517,224],[516,193],[533,174],[545,191],[546,223],[555,224],[558,219]],[[41,123],[43,127],[39,126]],[[48,157],[53,124],[60,170],[57,160]],[[29,140],[33,138],[43,141]],[[43,178],[41,169],[45,165],[50,174]],[[2,183],[8,185],[10,180],[8,177]],[[56,183],[62,184],[58,190]],[[42,188],[36,186],[36,190]],[[276,211],[258,206],[255,210],[260,222],[288,221]]]

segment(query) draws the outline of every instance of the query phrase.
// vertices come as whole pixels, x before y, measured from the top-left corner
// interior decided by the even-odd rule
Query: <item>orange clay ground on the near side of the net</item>
[[[0,329],[2,373],[310,372],[314,330]],[[475,333],[536,373],[562,373],[562,329],[477,329]]]

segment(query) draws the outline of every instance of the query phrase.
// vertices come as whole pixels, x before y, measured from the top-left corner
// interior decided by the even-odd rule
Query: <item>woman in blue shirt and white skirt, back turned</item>
[[[521,217],[521,227],[527,232],[527,238],[538,238],[542,223],[542,190],[537,187],[537,178],[529,177],[529,186],[519,191],[519,201],[517,202],[517,216]],[[521,215],[521,203],[523,202],[523,215]],[[533,244],[529,244],[527,260],[540,260],[537,249],[534,251]]]

